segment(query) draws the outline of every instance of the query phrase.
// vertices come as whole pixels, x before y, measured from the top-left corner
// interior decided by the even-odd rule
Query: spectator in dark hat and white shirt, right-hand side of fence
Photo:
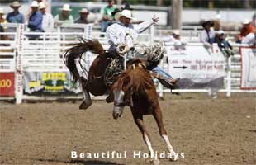
[[[212,28],[213,23],[211,21],[204,21],[201,26],[203,31],[201,32],[201,42],[206,48],[211,47],[211,44],[214,42],[215,32]]]

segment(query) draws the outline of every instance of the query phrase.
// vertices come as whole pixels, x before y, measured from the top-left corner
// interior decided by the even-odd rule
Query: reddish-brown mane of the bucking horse
[[[138,62],[138,60],[128,66],[124,73],[121,73],[119,77],[121,78],[121,81],[119,82],[118,87],[122,86],[124,79],[129,78],[132,92],[142,94],[145,93],[145,90],[152,89],[154,87],[154,82],[144,65],[136,62]]]

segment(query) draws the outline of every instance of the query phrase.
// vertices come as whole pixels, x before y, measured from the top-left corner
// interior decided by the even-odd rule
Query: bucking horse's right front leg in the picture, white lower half
[[[163,116],[162,111],[160,110],[160,107],[158,106],[155,111],[153,112],[154,119],[157,122],[157,125],[159,127],[159,134],[164,139],[165,144],[167,145],[168,152],[171,154],[172,160],[178,159],[178,153],[175,153],[173,146],[171,145],[166,130],[164,129],[164,123],[163,123]]]

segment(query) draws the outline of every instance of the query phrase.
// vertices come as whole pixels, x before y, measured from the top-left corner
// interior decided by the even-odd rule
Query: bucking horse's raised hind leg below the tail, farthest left
[[[88,109],[89,106],[92,105],[92,99],[91,99],[90,93],[88,92],[88,89],[86,87],[88,80],[86,80],[83,77],[81,77],[80,80],[81,80],[82,90],[83,90],[83,102],[79,106],[79,109],[86,110],[86,109]]]

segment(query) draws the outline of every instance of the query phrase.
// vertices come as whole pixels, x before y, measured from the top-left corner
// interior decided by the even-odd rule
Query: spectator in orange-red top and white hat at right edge
[[[251,26],[250,23],[247,19],[243,21],[243,27],[240,30],[237,40],[239,43],[249,45],[254,43],[254,26]]]

